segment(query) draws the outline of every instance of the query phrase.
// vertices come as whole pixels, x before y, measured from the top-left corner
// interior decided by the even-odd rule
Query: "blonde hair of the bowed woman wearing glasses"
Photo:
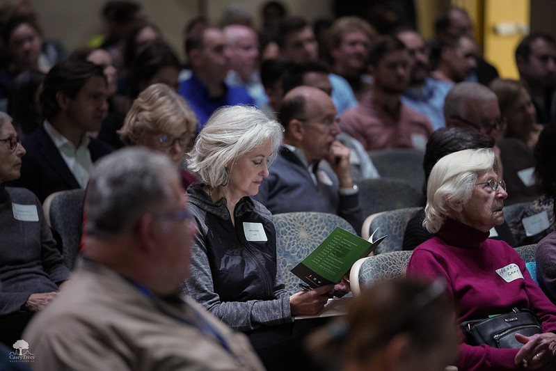
[[[166,84],[152,84],[134,100],[118,134],[126,145],[136,145],[145,134],[170,132],[175,127],[183,127],[193,138],[196,126],[197,117],[184,98]]]

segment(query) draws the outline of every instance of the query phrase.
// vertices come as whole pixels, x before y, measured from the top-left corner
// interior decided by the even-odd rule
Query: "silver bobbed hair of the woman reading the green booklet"
[[[188,168],[202,182],[217,187],[227,181],[225,166],[272,141],[270,162],[282,143],[283,127],[254,106],[223,106],[214,111],[189,152]]]

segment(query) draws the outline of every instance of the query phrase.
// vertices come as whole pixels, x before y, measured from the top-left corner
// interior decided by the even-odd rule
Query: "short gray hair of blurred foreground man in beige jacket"
[[[159,210],[174,195],[173,177],[179,180],[175,164],[148,148],[123,148],[103,157],[90,173],[86,233],[117,235],[134,226],[143,214]]]

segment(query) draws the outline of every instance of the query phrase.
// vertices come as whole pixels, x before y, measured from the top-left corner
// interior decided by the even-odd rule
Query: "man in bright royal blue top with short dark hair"
[[[180,83],[178,93],[195,111],[198,131],[220,106],[255,104],[243,86],[225,84],[230,70],[230,52],[221,29],[206,26],[191,32],[187,35],[185,50],[192,73]]]

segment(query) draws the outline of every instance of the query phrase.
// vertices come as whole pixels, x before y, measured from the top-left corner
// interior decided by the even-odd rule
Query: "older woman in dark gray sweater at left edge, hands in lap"
[[[0,342],[8,347],[70,275],[38,198],[28,189],[6,187],[19,177],[24,155],[10,116],[0,112]]]

